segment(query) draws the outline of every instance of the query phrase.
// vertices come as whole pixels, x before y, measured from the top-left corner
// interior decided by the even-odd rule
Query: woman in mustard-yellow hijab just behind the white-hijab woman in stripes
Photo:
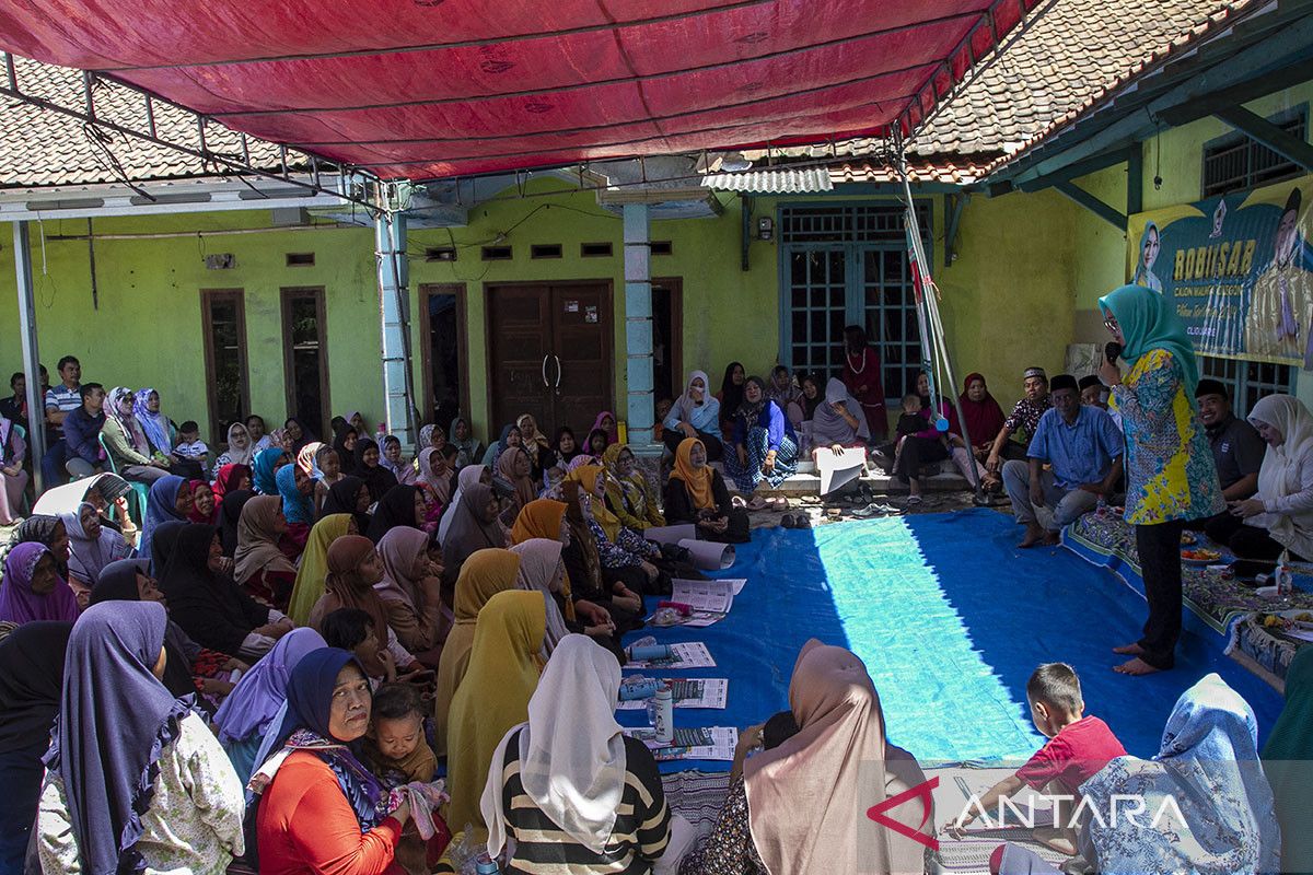
[[[467,668],[446,719],[446,820],[483,836],[479,796],[502,736],[529,716],[546,607],[537,593],[502,592],[479,611]]]

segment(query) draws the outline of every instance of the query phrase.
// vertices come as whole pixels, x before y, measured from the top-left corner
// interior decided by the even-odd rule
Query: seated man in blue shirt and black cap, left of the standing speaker
[[[1003,466],[1003,485],[1016,521],[1025,525],[1018,547],[1056,544],[1062,526],[1112,495],[1121,476],[1125,441],[1107,412],[1081,404],[1070,374],[1049,384],[1053,409],[1040,417],[1025,462]],[[1049,467],[1045,468],[1044,464]]]

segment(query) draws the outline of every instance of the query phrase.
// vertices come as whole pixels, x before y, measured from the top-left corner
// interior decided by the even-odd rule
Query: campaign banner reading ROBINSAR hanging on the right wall
[[[1132,215],[1129,281],[1171,298],[1195,349],[1313,370],[1313,177]]]

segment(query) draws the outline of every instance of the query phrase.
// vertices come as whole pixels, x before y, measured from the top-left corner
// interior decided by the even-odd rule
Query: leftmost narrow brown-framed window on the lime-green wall
[[[227,442],[228,426],[246,418],[249,390],[246,363],[246,304],[242,290],[204,290],[205,370],[210,445]]]

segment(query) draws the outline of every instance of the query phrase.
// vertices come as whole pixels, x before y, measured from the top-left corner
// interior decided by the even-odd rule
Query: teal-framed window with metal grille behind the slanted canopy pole
[[[926,234],[930,205],[918,203],[916,213]],[[780,361],[838,375],[843,329],[860,324],[880,352],[885,395],[901,396],[922,367],[902,206],[784,206],[780,228]]]

